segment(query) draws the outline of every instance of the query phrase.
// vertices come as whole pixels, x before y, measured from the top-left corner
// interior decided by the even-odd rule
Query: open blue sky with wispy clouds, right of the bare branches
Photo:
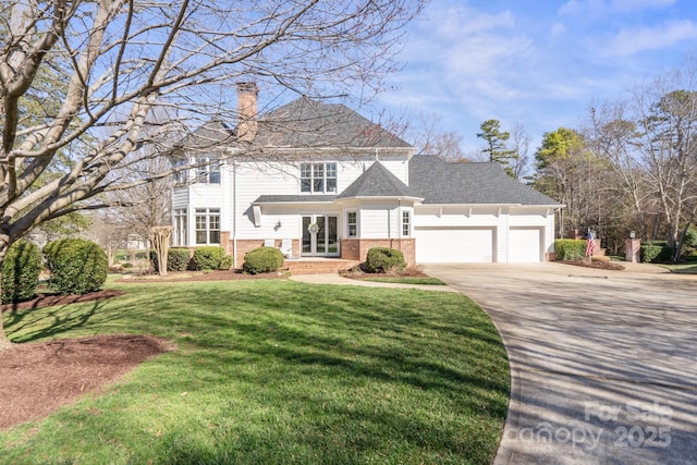
[[[695,0],[432,0],[409,25],[376,107],[432,114],[477,152],[479,124],[521,123],[533,139],[577,127],[591,105],[626,97],[697,53]]]

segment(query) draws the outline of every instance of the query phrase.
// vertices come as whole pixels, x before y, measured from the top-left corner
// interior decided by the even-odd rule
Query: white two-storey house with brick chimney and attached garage
[[[273,245],[289,257],[365,260],[374,246],[416,262],[536,262],[552,252],[561,205],[497,163],[415,156],[343,105],[298,98],[240,121],[211,121],[183,144],[200,162],[173,193],[174,245],[222,245],[237,259]],[[219,160],[219,162],[216,162]]]

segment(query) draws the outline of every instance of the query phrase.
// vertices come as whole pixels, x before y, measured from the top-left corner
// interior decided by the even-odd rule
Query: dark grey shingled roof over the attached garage
[[[418,155],[409,161],[409,186],[424,197],[423,204],[562,206],[491,162],[451,162]]]

